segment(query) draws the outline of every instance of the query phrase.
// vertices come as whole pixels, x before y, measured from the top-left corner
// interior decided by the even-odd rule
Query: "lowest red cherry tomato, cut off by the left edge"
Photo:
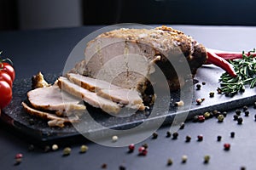
[[[9,86],[8,82],[0,80],[0,109],[9,105],[12,99],[12,88]]]

